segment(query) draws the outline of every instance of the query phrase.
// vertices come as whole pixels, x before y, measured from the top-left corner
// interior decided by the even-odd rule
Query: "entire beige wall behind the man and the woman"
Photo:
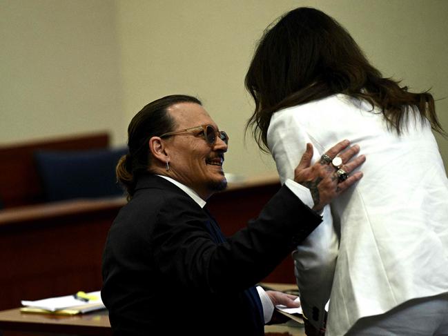
[[[384,75],[448,97],[444,0],[0,0],[0,141],[108,129],[124,144],[142,106],[186,93],[228,131],[226,172],[273,172],[244,144],[253,105],[243,81],[262,30],[297,6],[335,17]],[[448,99],[436,108],[448,129]]]

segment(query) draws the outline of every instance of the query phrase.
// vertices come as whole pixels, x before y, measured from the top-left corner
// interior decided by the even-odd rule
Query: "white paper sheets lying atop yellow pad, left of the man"
[[[88,302],[84,302],[80,299],[75,299],[74,295],[66,295],[62,297],[50,297],[48,299],[41,299],[37,301],[26,301],[22,300],[21,304],[23,306],[33,307],[33,308],[41,308],[50,311],[62,310],[74,308],[77,306],[97,306],[98,304],[103,304],[101,301],[101,293],[100,291],[86,293],[87,295],[94,295],[98,297],[96,300],[89,300]]]

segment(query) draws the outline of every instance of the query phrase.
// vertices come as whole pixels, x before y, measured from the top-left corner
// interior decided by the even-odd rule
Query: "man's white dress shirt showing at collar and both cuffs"
[[[197,195],[197,192],[195,190],[189,188],[188,186],[185,186],[184,184],[180,183],[179,181],[176,181],[175,179],[172,179],[171,177],[164,176],[164,175],[157,175],[159,177],[163,177],[167,181],[170,181],[171,183],[178,186],[180,189],[184,190],[184,192],[190,196],[193,201],[195,201],[201,208],[204,208],[206,205],[206,201],[199,197]],[[313,207],[313,198],[311,197],[311,192],[309,189],[305,188],[304,186],[301,186],[300,184],[295,183],[295,181],[289,180],[286,181],[286,186],[297,196],[299,197],[306,206],[309,206],[309,208]],[[267,323],[271,321],[272,315],[274,313],[274,306],[271,302],[271,299],[266,294],[264,289],[260,286],[257,286],[257,292],[260,296],[260,301],[262,302],[263,306],[263,316],[264,316],[264,323]]]

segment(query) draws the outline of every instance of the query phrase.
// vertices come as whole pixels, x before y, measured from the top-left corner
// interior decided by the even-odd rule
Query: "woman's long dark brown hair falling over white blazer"
[[[333,18],[314,8],[297,8],[266,28],[245,79],[255,100],[246,124],[258,146],[268,149],[267,130],[277,110],[342,93],[378,106],[389,128],[402,131],[406,106],[416,106],[442,133],[429,92],[411,93],[383,78]]]

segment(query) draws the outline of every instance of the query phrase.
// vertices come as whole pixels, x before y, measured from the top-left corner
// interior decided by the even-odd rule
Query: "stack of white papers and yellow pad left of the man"
[[[101,301],[100,291],[86,293],[91,299],[79,299],[76,295],[50,297],[37,301],[23,300],[21,308],[23,313],[53,313],[58,315],[76,315],[88,313],[92,310],[106,308]]]

